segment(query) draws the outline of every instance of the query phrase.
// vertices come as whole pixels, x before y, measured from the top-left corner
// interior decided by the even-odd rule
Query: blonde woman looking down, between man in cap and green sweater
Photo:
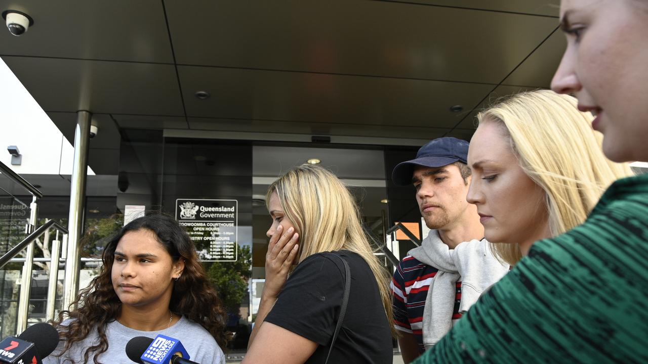
[[[581,225],[612,182],[632,175],[601,151],[603,135],[577,101],[518,93],[478,115],[468,200],[498,258],[515,265],[531,244]]]

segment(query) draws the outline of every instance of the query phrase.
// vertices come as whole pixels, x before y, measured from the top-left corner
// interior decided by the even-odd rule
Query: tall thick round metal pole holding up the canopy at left
[[[75,159],[72,168],[70,188],[70,214],[67,220],[67,259],[65,261],[65,282],[63,290],[63,309],[70,307],[78,293],[79,240],[83,235],[84,213],[86,211],[86,174],[87,153],[90,142],[90,119],[92,114],[86,110],[76,111]]]

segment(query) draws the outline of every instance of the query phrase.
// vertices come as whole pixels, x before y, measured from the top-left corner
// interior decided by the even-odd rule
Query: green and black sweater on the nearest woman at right
[[[415,363],[648,363],[648,175],[535,243]]]

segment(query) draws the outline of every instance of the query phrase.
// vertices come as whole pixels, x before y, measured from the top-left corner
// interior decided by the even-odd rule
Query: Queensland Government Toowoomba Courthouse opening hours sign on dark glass
[[[238,258],[238,201],[176,199],[176,220],[187,228],[203,262]]]

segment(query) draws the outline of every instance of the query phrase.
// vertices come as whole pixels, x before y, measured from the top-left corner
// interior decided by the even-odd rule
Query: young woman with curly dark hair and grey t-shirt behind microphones
[[[61,343],[44,364],[130,363],[126,343],[157,334],[180,339],[193,361],[225,363],[224,310],[176,220],[133,220],[106,244],[102,259],[101,273],[75,301],[78,308],[54,323]]]

